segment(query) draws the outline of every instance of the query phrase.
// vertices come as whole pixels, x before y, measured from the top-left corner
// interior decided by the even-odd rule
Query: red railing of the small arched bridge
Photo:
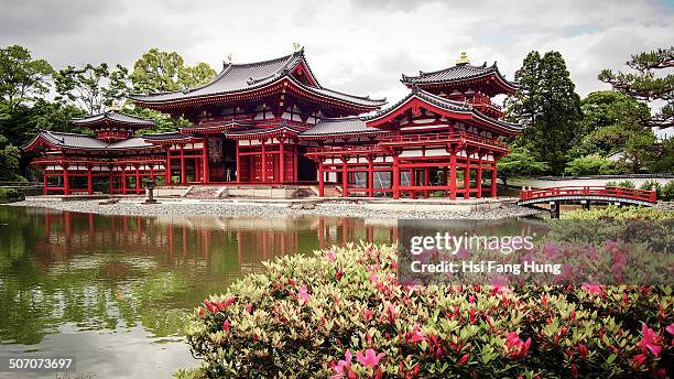
[[[656,203],[657,197],[655,191],[637,190],[627,187],[601,187],[601,186],[564,186],[541,190],[522,190],[520,191],[520,201],[529,201],[536,198],[545,198],[553,196],[608,196],[620,197],[635,201]]]

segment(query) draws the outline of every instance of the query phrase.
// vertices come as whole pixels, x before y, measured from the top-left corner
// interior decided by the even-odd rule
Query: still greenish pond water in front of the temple
[[[519,229],[521,220],[457,221]],[[275,256],[396,239],[395,220],[101,216],[0,206],[0,356],[75,356],[95,378],[196,367],[186,315]],[[55,378],[0,372],[0,378]]]

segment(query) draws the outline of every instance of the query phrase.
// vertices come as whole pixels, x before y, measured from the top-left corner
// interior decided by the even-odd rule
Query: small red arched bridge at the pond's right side
[[[589,207],[590,202],[619,203],[626,205],[653,206],[657,203],[655,191],[598,187],[598,186],[567,186],[540,190],[522,190],[518,205],[533,205],[542,203],[581,203]]]

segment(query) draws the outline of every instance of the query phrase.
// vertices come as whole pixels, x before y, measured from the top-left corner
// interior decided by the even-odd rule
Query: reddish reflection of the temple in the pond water
[[[325,217],[99,216],[53,209],[43,218],[43,243],[52,255],[77,255],[106,247],[168,257],[235,252],[239,264],[349,241],[398,238],[394,220]]]

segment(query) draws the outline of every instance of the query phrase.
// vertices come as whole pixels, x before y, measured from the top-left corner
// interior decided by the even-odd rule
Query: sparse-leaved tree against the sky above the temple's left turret
[[[87,113],[100,113],[113,104],[122,104],[130,89],[129,71],[117,65],[110,71],[107,63],[86,64],[81,68],[67,66],[54,75],[56,100],[72,104]]]

